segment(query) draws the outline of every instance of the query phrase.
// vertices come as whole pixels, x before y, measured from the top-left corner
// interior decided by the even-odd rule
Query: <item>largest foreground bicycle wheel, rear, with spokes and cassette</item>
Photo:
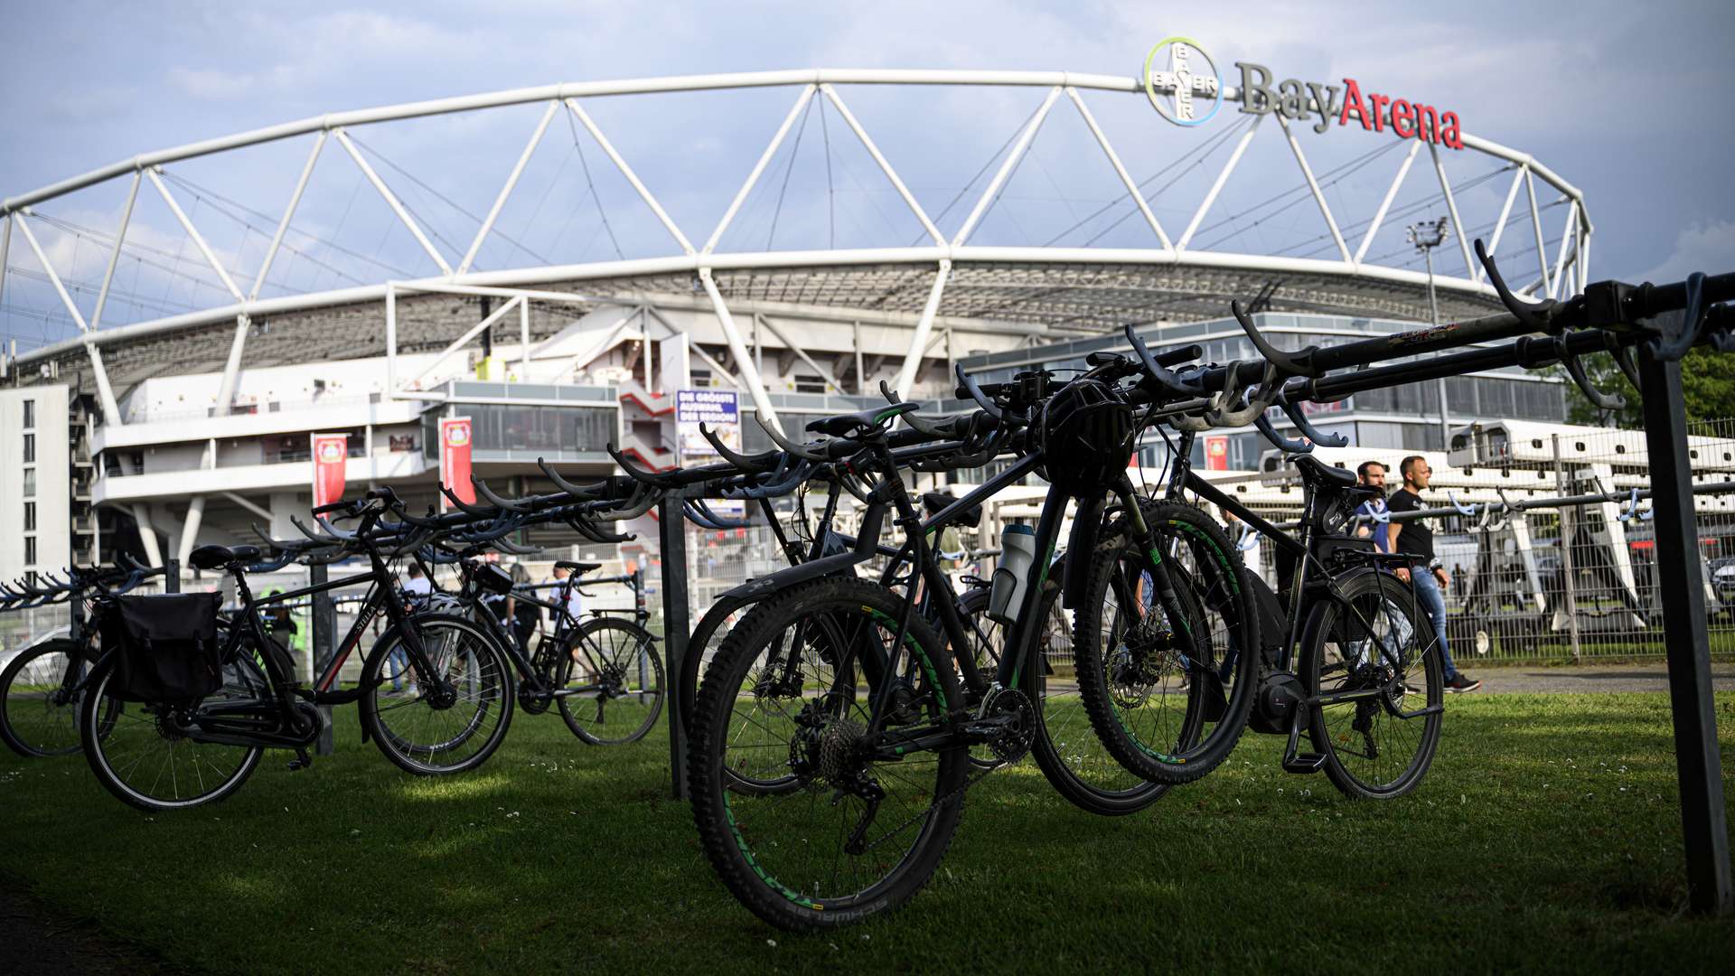
[[[864,580],[802,584],[748,613],[699,688],[687,764],[694,823],[723,884],[774,926],[826,929],[895,908],[958,828],[966,747],[894,755],[885,742],[944,733],[961,709],[944,641],[926,622],[911,618],[904,636],[920,662],[913,684],[878,667],[900,610]],[[852,665],[862,653],[874,667]],[[885,681],[897,683],[894,705],[874,740],[871,703]],[[758,781],[777,769],[788,778],[777,790],[725,773]]]

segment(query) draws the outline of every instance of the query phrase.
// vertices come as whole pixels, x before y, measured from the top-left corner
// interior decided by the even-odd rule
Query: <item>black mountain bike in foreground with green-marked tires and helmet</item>
[[[1131,504],[1124,464],[1135,420],[1114,382],[1136,373],[1117,356],[1058,389],[1050,389],[1048,373],[1025,373],[994,387],[959,373],[963,392],[980,410],[925,424],[932,434],[954,438],[949,450],[930,450],[930,460],[965,467],[963,460],[992,457],[1001,448],[1015,448],[1020,458],[926,519],[897,476],[900,462],[888,439],[888,420],[907,417],[916,405],[815,420],[809,431],[833,438],[817,450],[772,436],[798,457],[878,476],[869,500],[895,511],[894,524],[906,537],[900,554],[909,563],[906,575],[890,582],[904,582],[909,594],[918,578],[930,590],[946,585],[926,544],[935,526],[1038,469],[1055,485],[1036,528],[1036,552],[1043,556],[1055,551],[1074,498],[1079,514],[1067,549],[1095,552],[1103,497],[1116,493],[1124,507],[1117,531],[1136,538],[1147,554],[1156,604],[1178,622],[1173,643],[1187,648],[1183,667],[1195,689],[1190,721],[1164,743],[1164,755],[1173,768],[1168,778],[1188,781],[1220,764],[1239,738],[1251,707],[1253,660],[1239,658],[1228,691],[1218,686],[1220,710],[1208,719],[1202,688],[1218,674],[1220,648],[1234,639],[1209,639],[1208,622],[1183,603],[1185,587],[1175,585],[1171,563],[1157,552],[1171,540],[1180,544],[1194,554],[1194,571],[1239,597],[1227,604],[1220,625],[1249,629],[1242,643],[1251,643],[1256,623],[1239,587],[1239,557],[1209,519],[1185,505],[1162,509],[1162,519],[1145,519]],[[979,436],[982,425],[992,429],[985,438]],[[1188,535],[1175,524],[1185,524]],[[1079,566],[1093,563],[1069,561],[1060,592],[1083,592]],[[1022,688],[1039,670],[1032,650],[1039,646],[1039,601],[1050,564],[1046,557],[1032,563],[1017,613],[1008,615],[1012,651],[1001,656],[991,683],[977,672],[972,655],[947,653],[970,646],[951,601],[933,601],[942,636],[892,585],[836,575],[784,585],[802,570],[760,580],[776,596],[756,604],[723,641],[696,700],[689,783],[694,821],[730,891],[776,926],[819,929],[895,907],[925,884],[956,830],[965,788],[987,773],[972,773],[970,747],[987,747],[999,766],[1031,750],[1038,719]],[[1076,599],[1067,603],[1077,606]],[[975,707],[959,677],[987,689]],[[748,769],[753,776],[744,783],[723,769]]]

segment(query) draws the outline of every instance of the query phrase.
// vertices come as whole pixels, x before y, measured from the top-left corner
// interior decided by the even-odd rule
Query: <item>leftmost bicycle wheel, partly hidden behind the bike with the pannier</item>
[[[0,670],[0,742],[26,759],[78,752],[78,705],[62,689],[90,670],[88,646],[78,641],[43,641],[14,656]],[[109,710],[108,726],[115,722]]]

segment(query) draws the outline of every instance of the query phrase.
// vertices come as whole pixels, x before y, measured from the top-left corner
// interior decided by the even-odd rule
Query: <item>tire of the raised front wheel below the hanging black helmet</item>
[[[1192,783],[1228,759],[1247,726],[1258,689],[1258,617],[1241,582],[1241,556],[1211,518],[1176,502],[1142,502],[1142,512],[1157,537],[1156,549],[1168,554],[1162,561],[1182,611],[1194,620],[1183,620],[1176,632],[1150,599],[1149,611],[1129,615],[1147,627],[1147,634],[1135,641],[1138,646],[1124,641],[1119,608],[1147,603],[1143,573],[1152,566],[1152,554],[1140,551],[1124,531],[1098,545],[1083,604],[1074,610],[1079,695],[1097,736],[1126,769],[1156,783]],[[1136,570],[1138,578],[1128,570]],[[1188,650],[1185,634],[1209,623],[1208,610],[1221,627],[1211,630],[1209,660],[1197,660],[1199,651]],[[1121,630],[1116,630],[1117,622]],[[1223,679],[1220,662],[1227,658],[1234,658],[1234,670]],[[1145,710],[1152,695],[1156,709],[1168,707],[1171,679],[1180,679],[1176,696],[1185,696],[1173,726],[1157,710]],[[1220,696],[1218,688],[1225,684],[1227,695]],[[1133,728],[1152,722],[1164,728]]]

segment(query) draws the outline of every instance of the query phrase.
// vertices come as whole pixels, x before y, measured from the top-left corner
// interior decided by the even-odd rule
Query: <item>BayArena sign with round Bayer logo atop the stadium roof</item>
[[[1188,36],[1169,36],[1157,42],[1145,56],[1145,96],[1157,115],[1175,125],[1204,125],[1223,99],[1239,101],[1246,115],[1277,113],[1289,122],[1313,122],[1313,132],[1326,132],[1331,120],[1338,125],[1359,123],[1369,132],[1391,130],[1398,139],[1421,139],[1463,149],[1461,122],[1456,111],[1440,111],[1431,104],[1395,99],[1378,92],[1362,94],[1355,78],[1341,85],[1300,82],[1284,78],[1273,83],[1272,69],[1263,64],[1237,61],[1241,87],[1225,89],[1216,61]]]

